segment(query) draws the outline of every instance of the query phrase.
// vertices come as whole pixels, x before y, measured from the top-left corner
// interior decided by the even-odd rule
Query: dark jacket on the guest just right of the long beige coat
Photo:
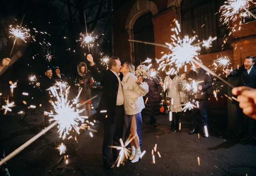
[[[188,73],[188,79],[191,78],[192,80],[196,80],[196,82],[200,82],[198,86],[202,86],[202,90],[198,89],[198,92],[195,94],[189,94],[189,99],[199,99],[199,100],[206,100],[207,99],[207,89],[212,87],[212,76],[206,72],[201,67],[197,69],[198,73],[194,70],[191,70]]]

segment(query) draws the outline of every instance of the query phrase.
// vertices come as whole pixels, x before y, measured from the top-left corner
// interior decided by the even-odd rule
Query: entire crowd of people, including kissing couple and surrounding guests
[[[208,117],[206,110],[207,90],[212,87],[212,78],[204,69],[200,67],[200,63],[195,64],[195,68],[191,70],[188,75],[170,74],[166,76],[164,82],[161,82],[158,76],[154,78],[142,79],[136,77],[135,67],[131,63],[121,62],[118,57],[111,57],[108,62],[108,69],[98,71],[92,55],[87,56],[89,66],[86,63],[80,62],[77,66],[78,75],[75,85],[78,86],[80,94],[80,103],[92,98],[91,86],[95,80],[101,82],[103,93],[97,110],[97,120],[104,122],[104,139],[102,146],[102,158],[104,167],[112,169],[110,162],[110,148],[112,145],[119,145],[119,139],[123,136],[123,127],[126,127],[125,138],[132,138],[130,147],[132,153],[129,158],[132,163],[138,162],[140,159],[142,146],[142,115],[150,116],[147,124],[152,124],[157,127],[156,117],[161,114],[160,102],[162,96],[170,98],[170,113],[172,113],[172,122],[170,130],[178,130],[178,123],[180,122],[180,112],[187,102],[198,102],[199,108],[192,109],[193,121],[192,130],[189,134],[198,133],[200,130],[198,120],[202,120],[202,127],[208,126]],[[7,66],[10,59],[4,58],[0,63],[0,69]],[[234,95],[237,95],[236,104],[237,109],[237,132],[234,136],[243,136],[254,142],[254,122],[256,120],[256,67],[254,66],[255,58],[253,56],[246,57],[244,64],[235,71],[226,69],[228,76],[238,77],[238,87],[232,90]],[[88,68],[90,73],[88,72]],[[0,71],[1,71],[0,70]],[[153,71],[154,69],[152,69]],[[56,82],[66,82],[67,77],[60,73],[60,68],[54,68],[54,74],[50,68],[46,68],[45,76],[37,86],[44,91],[44,106],[47,112],[52,110],[52,105],[49,103],[49,90]],[[198,82],[198,91],[190,94],[184,87],[189,81],[195,80]],[[241,87],[240,87],[241,86]],[[164,92],[159,88],[164,88]],[[90,117],[89,101],[84,105],[84,115]],[[50,118],[45,116],[45,126],[50,124]],[[202,135],[206,137],[204,128],[202,128]],[[2,146],[2,145],[1,145]],[[116,148],[112,149],[113,158],[118,158],[118,151]]]

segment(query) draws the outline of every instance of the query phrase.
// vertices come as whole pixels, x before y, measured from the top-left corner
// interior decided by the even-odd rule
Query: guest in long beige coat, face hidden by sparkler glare
[[[180,112],[182,112],[180,91],[182,90],[182,80],[180,76],[170,74],[165,77],[164,85],[166,87],[166,93],[169,98],[171,98],[170,103],[170,113],[172,113],[172,124],[170,130],[179,129]]]

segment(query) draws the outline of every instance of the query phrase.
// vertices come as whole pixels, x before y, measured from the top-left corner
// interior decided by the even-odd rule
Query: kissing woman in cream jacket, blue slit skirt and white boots
[[[142,116],[141,111],[145,108],[142,96],[148,93],[148,84],[142,82],[142,77],[134,75],[135,67],[131,63],[124,63],[120,72],[124,75],[122,86],[124,90],[124,111],[125,111],[125,126],[126,138],[130,134],[132,137],[136,136],[131,141],[132,154],[129,160],[132,163],[138,162],[140,155],[140,147],[142,146]],[[137,84],[137,83],[140,84]]]

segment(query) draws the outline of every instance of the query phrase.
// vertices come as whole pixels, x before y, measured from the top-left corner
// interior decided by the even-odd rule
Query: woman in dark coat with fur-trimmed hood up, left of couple
[[[76,86],[79,86],[79,91],[82,88],[82,92],[80,94],[80,103],[85,102],[86,100],[92,98],[92,75],[88,73],[86,63],[80,62],[77,66],[78,76],[76,77]],[[91,103],[89,101],[84,105],[84,116],[86,116],[86,106],[88,109],[88,118],[91,116]]]

